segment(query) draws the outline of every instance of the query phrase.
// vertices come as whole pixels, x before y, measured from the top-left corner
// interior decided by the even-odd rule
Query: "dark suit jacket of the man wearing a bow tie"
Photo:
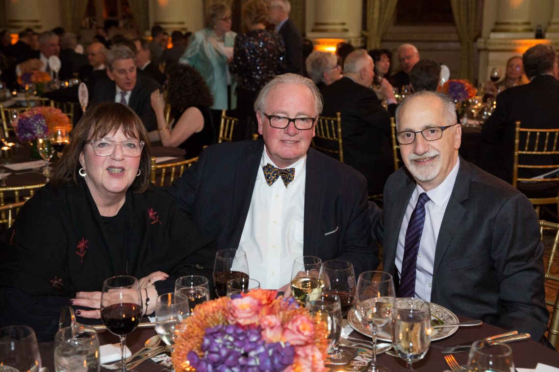
[[[262,141],[212,145],[168,190],[219,249],[238,247],[250,206]],[[306,160],[304,254],[353,264],[356,275],[378,265],[367,236],[365,180],[352,168],[309,149]]]

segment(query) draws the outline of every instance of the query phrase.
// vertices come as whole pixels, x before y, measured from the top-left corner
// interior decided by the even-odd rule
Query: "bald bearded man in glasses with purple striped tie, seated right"
[[[532,204],[458,156],[462,129],[447,96],[419,91],[396,110],[405,167],[386,182],[382,218],[371,204],[384,270],[398,297],[541,339],[543,244]]]

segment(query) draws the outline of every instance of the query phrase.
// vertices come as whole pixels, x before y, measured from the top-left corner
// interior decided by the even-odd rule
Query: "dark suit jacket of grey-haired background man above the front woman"
[[[161,89],[157,81],[138,74],[136,76],[136,85],[132,89],[129,107],[134,110],[144,123],[145,129],[155,131],[157,129],[157,121],[155,120],[155,112],[151,108],[150,95],[155,89]],[[100,102],[115,102],[116,84],[109,78],[97,81],[93,89],[92,104]]]

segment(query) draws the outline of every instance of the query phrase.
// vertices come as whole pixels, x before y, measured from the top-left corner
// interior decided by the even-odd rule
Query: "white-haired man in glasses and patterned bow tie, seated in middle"
[[[170,194],[220,249],[247,253],[250,277],[262,288],[288,287],[301,255],[348,260],[357,275],[375,269],[366,180],[309,148],[322,109],[315,84],[278,75],[254,109],[264,141],[206,148]]]

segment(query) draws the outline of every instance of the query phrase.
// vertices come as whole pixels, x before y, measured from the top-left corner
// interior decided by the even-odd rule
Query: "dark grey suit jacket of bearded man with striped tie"
[[[406,168],[394,172],[376,224],[384,270],[394,273],[395,284],[400,226],[415,186]],[[546,331],[543,244],[534,208],[517,189],[462,158],[440,225],[432,283],[431,302],[457,314],[528,332],[534,340]]]

